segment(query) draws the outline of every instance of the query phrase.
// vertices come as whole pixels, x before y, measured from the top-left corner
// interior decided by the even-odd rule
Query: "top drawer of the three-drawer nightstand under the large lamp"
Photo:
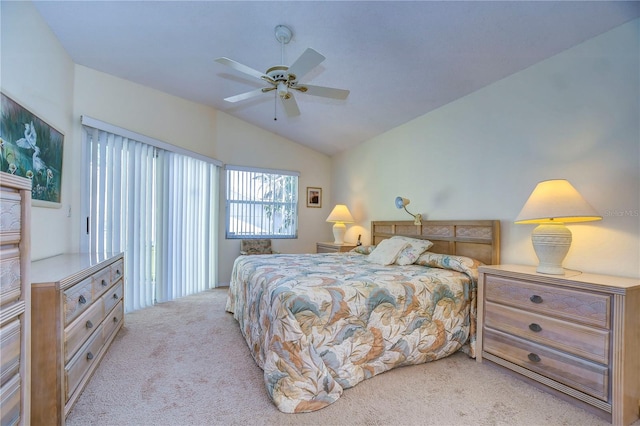
[[[485,298],[586,325],[610,328],[611,297],[554,285],[486,275]]]

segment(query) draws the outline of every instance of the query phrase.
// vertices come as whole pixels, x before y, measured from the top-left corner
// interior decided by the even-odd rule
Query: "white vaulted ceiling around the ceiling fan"
[[[332,155],[640,16],[636,1],[34,1],[73,61],[219,110]],[[274,29],[293,37],[283,46]],[[301,81],[345,100],[275,92],[265,72],[311,47]],[[284,53],[284,54],[283,54]],[[277,118],[277,120],[274,120]]]

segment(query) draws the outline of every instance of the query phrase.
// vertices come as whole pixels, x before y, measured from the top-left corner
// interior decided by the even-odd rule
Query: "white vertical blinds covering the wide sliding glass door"
[[[219,165],[87,125],[83,138],[81,246],[124,252],[125,311],[215,286]]]

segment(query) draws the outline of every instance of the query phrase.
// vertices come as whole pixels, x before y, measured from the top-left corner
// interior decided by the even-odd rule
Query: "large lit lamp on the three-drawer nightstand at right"
[[[539,260],[536,271],[563,275],[562,261],[571,247],[571,231],[564,224],[601,219],[567,180],[555,179],[535,187],[515,223],[538,224],[531,233]]]

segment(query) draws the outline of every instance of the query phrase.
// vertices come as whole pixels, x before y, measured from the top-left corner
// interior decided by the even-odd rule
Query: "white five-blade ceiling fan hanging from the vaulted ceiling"
[[[281,47],[281,62],[284,63],[284,45],[291,41],[292,32],[284,26],[278,25],[275,28],[275,36]],[[325,57],[311,48],[307,48],[290,67],[286,65],[275,65],[264,73],[254,70],[251,67],[243,65],[229,58],[217,58],[216,62],[229,66],[236,71],[248,74],[265,81],[268,86],[250,92],[241,93],[239,95],[225,98],[227,102],[239,102],[246,99],[259,96],[263,93],[276,91],[278,97],[282,100],[284,110],[289,117],[300,115],[300,109],[293,97],[293,90],[306,93],[313,96],[322,96],[332,99],[346,99],[349,96],[348,90],[334,89],[332,87],[312,86],[310,84],[302,84],[299,79],[306,75],[313,68],[318,66]]]

